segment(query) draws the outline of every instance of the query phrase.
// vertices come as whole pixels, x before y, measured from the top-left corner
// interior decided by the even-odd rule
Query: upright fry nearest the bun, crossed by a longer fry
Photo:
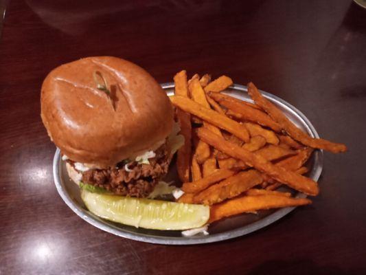
[[[179,94],[179,96],[187,98],[188,88],[187,88],[187,74],[185,70],[179,72],[174,76],[174,84],[175,84],[174,93]],[[185,138],[184,145],[181,148],[179,148],[177,152],[176,167],[178,170],[179,179],[185,182],[190,180],[192,126],[190,120],[190,113],[186,113],[185,111],[178,109],[176,110],[176,117],[178,118],[179,124],[181,126],[181,134]]]

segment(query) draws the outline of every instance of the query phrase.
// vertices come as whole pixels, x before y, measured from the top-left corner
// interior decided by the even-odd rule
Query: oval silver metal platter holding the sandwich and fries
[[[168,96],[174,93],[174,83],[164,83],[161,85],[166,91]],[[314,126],[306,118],[306,116],[293,107],[288,102],[261,91],[262,94],[275,103],[279,109],[282,109],[284,113],[292,120],[299,128],[303,129],[312,137],[319,137]],[[247,93],[247,87],[242,85],[233,85],[229,87],[226,94],[240,98],[241,100],[246,100],[252,102],[251,98]],[[308,162],[309,172],[308,177],[317,181],[321,174],[323,167],[323,152],[314,151],[310,161]],[[175,164],[171,164],[170,173],[165,177],[165,181],[179,182],[176,176]],[[80,198],[80,190],[76,184],[74,184],[68,177],[65,162],[61,159],[60,150],[57,149],[54,156],[54,181],[58,193],[65,201],[67,206],[73,210],[79,217],[91,223],[97,228],[110,232],[117,236],[122,236],[127,239],[133,239],[135,241],[144,241],[146,243],[161,243],[165,245],[192,245],[198,243],[212,243],[216,241],[223,241],[227,239],[233,239],[238,236],[243,236],[249,234],[260,228],[264,228],[271,223],[274,223],[278,219],[284,217],[294,208],[282,208],[279,210],[266,210],[260,211],[258,214],[240,214],[236,217],[230,217],[222,221],[218,221],[209,225],[209,235],[196,235],[191,237],[185,237],[181,235],[180,231],[170,231],[170,230],[148,230],[144,228],[135,228],[128,225],[122,225],[119,223],[114,223],[112,221],[106,221],[95,216],[87,210]],[[293,190],[283,188],[284,190],[293,192],[295,197],[306,197],[306,195],[295,192]]]

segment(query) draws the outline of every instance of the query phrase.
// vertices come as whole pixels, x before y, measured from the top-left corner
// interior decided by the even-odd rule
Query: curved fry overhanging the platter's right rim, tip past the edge
[[[310,146],[312,148],[324,149],[332,153],[340,153],[347,151],[347,146],[345,144],[334,143],[328,140],[323,140],[321,138],[312,138],[304,131],[301,131],[293,122],[291,122],[281,110],[279,110],[273,103],[264,98],[257,87],[253,83],[248,84],[248,93],[251,98],[257,103],[268,115],[271,116],[275,122],[277,122],[290,137],[294,140],[301,142],[301,144]]]

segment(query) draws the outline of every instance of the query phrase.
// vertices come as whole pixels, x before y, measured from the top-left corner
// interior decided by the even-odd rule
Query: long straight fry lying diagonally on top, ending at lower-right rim
[[[276,179],[295,190],[304,192],[307,195],[317,195],[319,193],[318,184],[312,179],[303,177],[290,170],[286,170],[281,166],[275,166],[271,162],[268,162],[268,160],[264,159],[264,157],[255,155],[240,146],[227,142],[225,138],[215,135],[205,128],[198,129],[197,135],[201,140],[207,142],[207,144],[213,146],[219,151],[222,151],[236,159],[241,159],[248,166],[253,166],[262,173],[266,173],[273,179]]]

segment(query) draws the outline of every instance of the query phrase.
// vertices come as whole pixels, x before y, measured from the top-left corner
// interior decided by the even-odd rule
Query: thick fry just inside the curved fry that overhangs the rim
[[[263,111],[250,107],[247,104],[242,104],[241,102],[238,102],[238,100],[234,100],[233,97],[224,94],[210,93],[209,96],[214,98],[214,100],[222,106],[233,111],[231,114],[239,120],[255,122],[262,126],[267,126],[276,132],[281,131],[281,126]]]

